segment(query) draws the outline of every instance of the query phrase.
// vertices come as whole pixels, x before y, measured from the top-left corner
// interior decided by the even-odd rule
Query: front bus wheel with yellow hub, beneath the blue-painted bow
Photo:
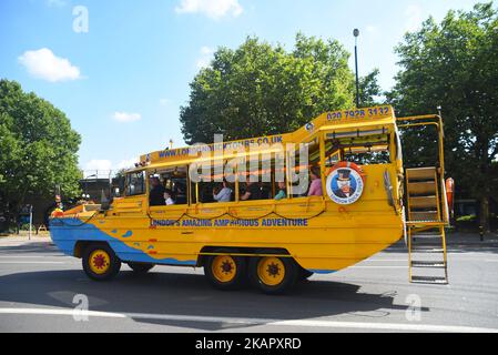
[[[95,281],[113,278],[121,267],[121,261],[108,244],[90,244],[85,247],[82,257],[83,270]]]

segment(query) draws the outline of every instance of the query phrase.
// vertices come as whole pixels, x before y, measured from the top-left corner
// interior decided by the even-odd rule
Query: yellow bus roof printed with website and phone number
[[[342,132],[348,130],[372,130],[375,128],[388,128],[396,124],[396,116],[390,105],[352,109],[322,113],[313,121],[291,133],[257,136],[245,140],[215,142],[212,144],[194,144],[185,148],[165,149],[140,156],[136,168],[170,165],[173,163],[187,163],[199,159],[202,152],[221,154],[224,151],[247,150],[250,146],[261,146],[264,151],[272,151],[274,144],[302,143],[321,131]],[[226,154],[224,154],[226,155]]]

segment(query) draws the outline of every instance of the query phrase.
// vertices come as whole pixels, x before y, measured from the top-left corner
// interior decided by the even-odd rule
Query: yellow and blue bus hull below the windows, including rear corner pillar
[[[389,165],[365,166],[368,190],[353,205],[312,196],[248,201],[236,207],[224,203],[163,206],[146,214],[133,209],[89,212],[52,219],[51,235],[73,256],[81,256],[91,242],[109,243],[122,262],[182,266],[201,266],[203,256],[220,248],[247,257],[271,251],[311,272],[332,273],[403,236],[402,214],[386,200],[385,171],[394,174]]]

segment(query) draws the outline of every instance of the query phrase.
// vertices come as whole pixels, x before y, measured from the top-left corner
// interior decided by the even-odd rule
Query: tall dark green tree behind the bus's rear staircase
[[[489,230],[491,169],[498,154],[498,12],[479,3],[469,12],[449,11],[407,33],[396,48],[402,71],[388,100],[398,115],[424,114],[443,106],[445,155],[449,174],[480,201],[480,224]],[[434,136],[405,132],[407,160],[434,156]],[[420,149],[414,149],[420,146]]]

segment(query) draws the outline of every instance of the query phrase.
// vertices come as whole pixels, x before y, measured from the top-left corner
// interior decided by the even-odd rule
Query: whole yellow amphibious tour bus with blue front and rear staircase
[[[435,166],[404,166],[406,126],[436,129]],[[177,265],[203,267],[221,290],[281,293],[405,237],[410,282],[447,283],[444,172],[439,115],[326,112],[292,133],[145,154],[111,203],[52,215],[50,230],[98,281],[122,263]]]

